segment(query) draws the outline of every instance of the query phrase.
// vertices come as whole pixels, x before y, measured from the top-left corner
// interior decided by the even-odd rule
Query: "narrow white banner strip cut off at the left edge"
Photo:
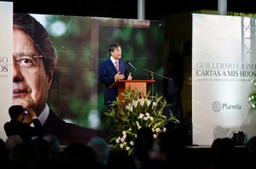
[[[7,138],[3,125],[9,121],[9,107],[12,105],[12,63],[13,63],[13,3],[0,2],[0,138]]]

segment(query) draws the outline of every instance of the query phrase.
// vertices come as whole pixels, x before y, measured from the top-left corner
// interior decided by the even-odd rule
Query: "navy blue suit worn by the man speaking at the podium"
[[[120,74],[125,75],[125,79],[128,77],[127,65],[126,62],[122,59],[119,59],[119,71]],[[99,78],[100,82],[105,84],[106,90],[104,94],[104,104],[109,105],[118,95],[117,88],[109,88],[114,82],[114,76],[117,74],[117,70],[115,69],[113,62],[111,59],[104,60],[99,66]]]

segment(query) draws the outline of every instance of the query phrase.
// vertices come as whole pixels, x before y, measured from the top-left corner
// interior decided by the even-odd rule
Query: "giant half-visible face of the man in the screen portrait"
[[[44,109],[51,80],[44,70],[44,56],[38,53],[31,38],[20,29],[13,30],[13,103]]]

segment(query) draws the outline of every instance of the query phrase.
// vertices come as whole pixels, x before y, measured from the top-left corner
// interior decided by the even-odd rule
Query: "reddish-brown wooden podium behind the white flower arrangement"
[[[131,87],[131,89],[137,87],[137,89],[146,96],[148,93],[148,85],[153,85],[154,82],[155,80],[119,80],[114,82],[109,88],[118,88],[118,98],[120,103],[123,100],[121,93],[124,93],[127,87]]]

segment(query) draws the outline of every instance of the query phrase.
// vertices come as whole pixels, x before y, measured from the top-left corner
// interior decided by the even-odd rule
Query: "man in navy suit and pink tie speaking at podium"
[[[126,62],[121,59],[122,49],[119,43],[109,45],[108,52],[110,57],[100,63],[99,78],[106,87],[104,104],[110,109],[110,104],[116,100],[118,89],[109,87],[121,79],[131,80],[132,76],[131,72],[128,73]]]

